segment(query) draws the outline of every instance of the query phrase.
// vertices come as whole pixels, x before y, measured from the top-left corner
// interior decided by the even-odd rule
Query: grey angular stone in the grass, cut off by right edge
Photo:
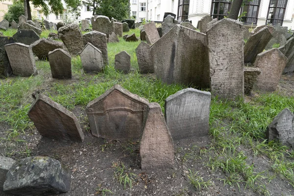
[[[294,115],[285,108],[267,127],[266,138],[268,141],[276,140],[282,145],[294,148]]]

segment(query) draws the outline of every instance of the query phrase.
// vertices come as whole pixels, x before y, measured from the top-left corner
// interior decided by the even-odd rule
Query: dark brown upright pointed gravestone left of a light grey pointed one
[[[54,49],[48,54],[53,78],[72,78],[71,55],[63,49]]]

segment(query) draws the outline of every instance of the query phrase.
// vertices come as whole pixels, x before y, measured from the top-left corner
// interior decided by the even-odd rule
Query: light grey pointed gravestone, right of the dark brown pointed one
[[[88,43],[80,53],[82,66],[85,72],[101,72],[103,69],[103,59],[101,51]]]

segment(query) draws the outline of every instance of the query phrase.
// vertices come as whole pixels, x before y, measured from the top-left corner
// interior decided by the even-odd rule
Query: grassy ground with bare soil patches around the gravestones
[[[15,32],[3,34],[12,36]],[[138,29],[131,32],[137,37],[140,34]],[[44,31],[41,37],[48,34]],[[175,143],[171,170],[141,171],[140,139],[116,141],[92,136],[86,105],[114,84],[158,102],[163,109],[167,97],[187,88],[138,73],[135,49],[139,43],[123,38],[120,43],[109,43],[109,66],[103,73],[84,73],[77,56],[72,58],[72,79],[53,79],[49,62],[39,60],[38,75],[1,79],[0,155],[59,160],[72,172],[71,190],[62,196],[294,195],[294,151],[265,140],[266,128],[279,112],[286,107],[294,112],[293,76],[283,75],[274,93],[253,92],[237,101],[212,98],[209,135]],[[129,74],[114,69],[114,56],[123,50],[131,56],[133,71]],[[39,94],[77,116],[85,135],[83,143],[40,136],[27,116]]]

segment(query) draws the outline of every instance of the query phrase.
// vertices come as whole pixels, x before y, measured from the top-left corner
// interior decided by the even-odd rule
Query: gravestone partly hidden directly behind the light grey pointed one
[[[91,31],[89,33],[85,33],[83,35],[83,42],[84,46],[86,46],[87,43],[91,43],[93,44],[93,46],[98,48],[102,52],[103,65],[108,65],[106,34],[98,31]]]

